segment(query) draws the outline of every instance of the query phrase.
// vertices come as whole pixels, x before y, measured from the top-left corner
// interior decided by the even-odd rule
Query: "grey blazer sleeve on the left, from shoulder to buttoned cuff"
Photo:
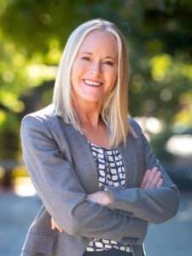
[[[63,134],[65,136],[65,134]],[[64,159],[47,122],[28,115],[21,123],[26,168],[49,215],[74,236],[142,244],[148,224],[86,200],[73,166]]]

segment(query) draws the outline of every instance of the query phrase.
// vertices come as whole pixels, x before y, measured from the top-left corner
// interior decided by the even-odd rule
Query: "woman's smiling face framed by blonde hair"
[[[118,45],[112,33],[96,30],[84,39],[73,62],[73,96],[77,104],[99,104],[113,86],[118,73]],[[88,106],[89,106],[88,105]]]

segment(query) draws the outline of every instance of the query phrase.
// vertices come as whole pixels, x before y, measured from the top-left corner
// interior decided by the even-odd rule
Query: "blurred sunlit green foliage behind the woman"
[[[22,116],[51,102],[69,34],[97,17],[127,40],[131,115],[157,117],[169,130],[191,127],[191,15],[188,0],[1,0],[0,158],[18,155]]]

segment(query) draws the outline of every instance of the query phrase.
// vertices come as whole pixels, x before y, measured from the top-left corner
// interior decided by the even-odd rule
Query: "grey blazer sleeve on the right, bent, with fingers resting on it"
[[[140,166],[141,162],[143,163],[144,171],[157,166],[163,178],[163,186],[145,190],[107,186],[106,189],[113,195],[113,203],[108,207],[125,211],[129,216],[144,219],[148,223],[160,224],[177,213],[179,192],[159,160],[155,158],[139,125],[133,119],[131,124],[137,132],[137,138],[130,137],[137,152],[137,162],[140,162]],[[137,170],[137,172],[143,172],[143,170]]]

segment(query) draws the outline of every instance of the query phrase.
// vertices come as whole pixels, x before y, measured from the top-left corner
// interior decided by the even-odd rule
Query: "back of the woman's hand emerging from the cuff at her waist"
[[[108,191],[97,191],[87,195],[87,201],[96,202],[102,206],[108,206],[113,202],[113,196]]]

